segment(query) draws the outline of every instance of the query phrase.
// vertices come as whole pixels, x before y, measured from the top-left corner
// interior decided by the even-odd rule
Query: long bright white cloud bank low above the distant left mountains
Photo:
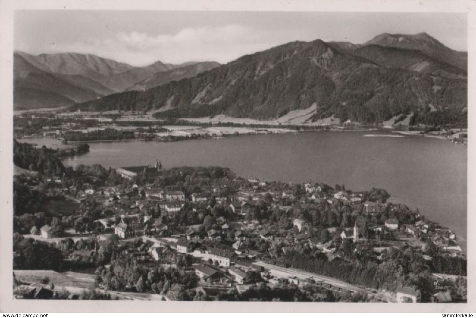
[[[132,65],[146,65],[157,60],[169,63],[216,60],[226,63],[278,44],[281,43],[271,32],[232,24],[186,28],[176,34],[119,32],[107,39],[90,38],[56,49],[97,54]]]

